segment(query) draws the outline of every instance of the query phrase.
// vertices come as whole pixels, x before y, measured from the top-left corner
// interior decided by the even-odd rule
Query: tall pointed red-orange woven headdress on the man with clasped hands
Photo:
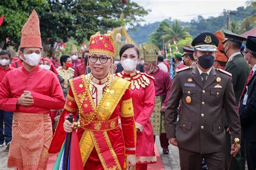
[[[31,12],[28,21],[21,30],[21,45],[19,47],[42,48],[39,18],[35,10]]]

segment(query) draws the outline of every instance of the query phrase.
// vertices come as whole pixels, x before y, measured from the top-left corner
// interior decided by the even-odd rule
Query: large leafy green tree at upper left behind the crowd
[[[122,3],[119,0],[1,1],[0,15],[4,14],[6,19],[0,28],[0,40],[9,37],[18,45],[22,26],[33,8],[40,19],[42,42],[45,48],[48,47],[46,50],[54,42],[67,42],[73,38],[80,44],[97,31],[105,33],[118,26],[137,24],[149,12],[135,2]],[[122,12],[125,17],[119,19]]]

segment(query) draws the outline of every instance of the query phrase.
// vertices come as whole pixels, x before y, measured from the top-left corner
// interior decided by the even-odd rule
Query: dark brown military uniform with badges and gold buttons
[[[203,84],[197,66],[180,70],[174,76],[165,114],[167,138],[177,138],[180,149],[202,155],[209,169],[218,169],[224,166],[226,149],[224,120],[221,114],[223,106],[227,113],[228,124],[232,129],[231,141],[234,141],[234,138],[240,139],[241,135],[231,74],[212,67],[206,83]],[[182,111],[176,125],[180,98]],[[220,154],[222,160],[211,160],[205,156],[218,152],[223,152]],[[191,168],[188,165],[193,162],[184,159],[187,158],[180,157],[180,162],[184,162],[187,168]],[[223,165],[218,165],[220,161]],[[198,162],[195,161],[194,164]],[[181,169],[186,168],[181,166]]]

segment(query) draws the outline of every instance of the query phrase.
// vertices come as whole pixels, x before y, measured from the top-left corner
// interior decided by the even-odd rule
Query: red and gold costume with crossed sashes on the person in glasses
[[[114,77],[98,80],[90,75],[70,80],[70,91],[55,135],[50,153],[60,150],[65,139],[64,117],[73,113],[81,128],[77,134],[84,169],[123,169],[125,154],[136,153],[136,132],[130,95],[130,82]],[[88,82],[89,77],[89,82]],[[118,126],[118,117],[122,130]]]

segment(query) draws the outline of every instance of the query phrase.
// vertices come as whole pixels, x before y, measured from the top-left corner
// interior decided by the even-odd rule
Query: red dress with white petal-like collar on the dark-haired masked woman
[[[124,71],[116,76],[131,81],[131,97],[136,123],[136,162],[137,164],[152,164],[157,161],[154,153],[153,129],[150,121],[154,110],[156,92],[154,77],[142,72],[125,74]],[[146,144],[146,145],[145,145]]]

